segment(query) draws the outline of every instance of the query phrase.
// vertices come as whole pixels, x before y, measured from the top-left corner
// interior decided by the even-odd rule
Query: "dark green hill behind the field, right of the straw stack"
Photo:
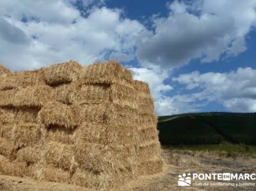
[[[256,144],[256,113],[207,112],[159,116],[161,144]]]

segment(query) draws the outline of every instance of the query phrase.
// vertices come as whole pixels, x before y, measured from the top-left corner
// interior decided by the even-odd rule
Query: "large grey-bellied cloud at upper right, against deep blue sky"
[[[202,63],[246,50],[256,20],[256,1],[204,0],[169,4],[170,15],[154,20],[154,34],[138,44],[142,63],[174,68],[192,59]]]

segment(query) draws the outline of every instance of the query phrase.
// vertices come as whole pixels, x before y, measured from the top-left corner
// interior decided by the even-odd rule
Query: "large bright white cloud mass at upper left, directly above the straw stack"
[[[93,7],[83,17],[70,1],[1,1],[0,12],[1,62],[12,70],[68,59],[130,61],[135,42],[147,33],[137,20],[123,18],[122,10]],[[17,45],[22,40],[29,43]]]

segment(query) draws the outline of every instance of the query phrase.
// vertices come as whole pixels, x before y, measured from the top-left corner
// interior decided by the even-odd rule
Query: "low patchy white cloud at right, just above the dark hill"
[[[173,78],[173,82],[196,93],[183,96],[188,102],[217,101],[228,111],[256,112],[256,70],[238,68],[229,73],[191,72]]]

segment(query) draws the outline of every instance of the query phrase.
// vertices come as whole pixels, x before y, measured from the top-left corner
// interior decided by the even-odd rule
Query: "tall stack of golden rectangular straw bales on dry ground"
[[[106,190],[162,170],[150,90],[119,63],[0,78],[0,174]]]

